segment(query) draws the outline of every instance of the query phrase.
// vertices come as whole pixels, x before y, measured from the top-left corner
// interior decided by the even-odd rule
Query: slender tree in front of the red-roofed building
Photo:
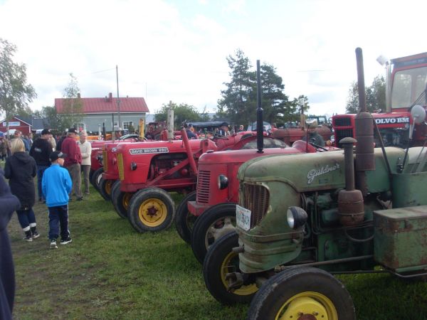
[[[70,82],[63,91],[63,97],[63,124],[65,127],[76,127],[76,124],[82,122],[84,114],[80,89],[73,73],[70,73]]]

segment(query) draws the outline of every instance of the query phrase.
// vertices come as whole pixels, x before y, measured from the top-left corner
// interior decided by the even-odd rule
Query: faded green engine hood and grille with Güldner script
[[[391,170],[404,158],[403,149],[386,148]],[[370,193],[390,190],[381,149],[375,149],[375,171],[367,171]],[[250,226],[239,235],[240,269],[244,273],[272,270],[295,260],[302,250],[303,228],[293,230],[287,219],[291,206],[301,207],[302,193],[345,187],[344,151],[263,156],[238,171],[239,206],[251,210]]]

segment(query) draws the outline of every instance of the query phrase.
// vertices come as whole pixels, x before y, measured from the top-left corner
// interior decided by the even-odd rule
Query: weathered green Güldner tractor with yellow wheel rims
[[[344,152],[263,156],[238,171],[236,233],[211,245],[204,281],[220,302],[250,302],[249,319],[355,319],[331,274],[427,276],[427,150],[374,149],[357,49],[356,140]],[[411,110],[411,125],[425,119]],[[357,187],[357,188],[355,188]]]

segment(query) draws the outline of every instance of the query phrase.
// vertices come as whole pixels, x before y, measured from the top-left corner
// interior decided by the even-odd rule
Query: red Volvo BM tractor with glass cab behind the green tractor
[[[396,58],[386,64],[386,110],[373,113],[384,146],[406,148],[422,146],[426,140],[425,122],[416,124],[411,132],[411,108],[414,105],[426,107],[427,90],[427,53]],[[381,110],[379,110],[381,112]],[[356,114],[338,114],[332,117],[334,140],[337,146],[344,137],[356,137],[354,119]],[[379,145],[379,134],[376,132],[374,142]]]

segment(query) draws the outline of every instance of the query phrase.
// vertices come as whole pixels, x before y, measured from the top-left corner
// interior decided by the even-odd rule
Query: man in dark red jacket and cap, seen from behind
[[[64,139],[60,150],[65,154],[64,167],[68,170],[73,181],[73,191],[77,200],[83,200],[81,190],[80,164],[82,154],[75,139],[75,128],[68,129],[67,137]]]

